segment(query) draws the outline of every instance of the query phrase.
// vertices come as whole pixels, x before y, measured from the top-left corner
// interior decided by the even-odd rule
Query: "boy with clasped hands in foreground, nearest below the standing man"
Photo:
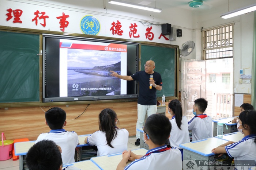
[[[181,152],[178,148],[167,148],[165,145],[172,129],[169,119],[162,114],[153,114],[147,118],[142,129],[144,142],[150,150],[144,156],[125,150],[117,170],[181,170]],[[133,162],[126,166],[128,160]]]

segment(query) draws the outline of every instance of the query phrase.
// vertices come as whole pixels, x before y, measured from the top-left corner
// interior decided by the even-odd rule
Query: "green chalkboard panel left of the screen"
[[[39,35],[0,31],[0,103],[39,101]]]

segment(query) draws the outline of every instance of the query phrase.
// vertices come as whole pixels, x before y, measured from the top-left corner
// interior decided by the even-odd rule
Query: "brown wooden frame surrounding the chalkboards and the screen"
[[[18,32],[24,34],[39,34],[40,42],[39,42],[39,51],[42,51],[42,34],[51,34],[51,35],[67,35],[67,36],[80,36],[85,38],[95,38],[93,35],[84,35],[84,34],[74,34],[68,32],[58,32],[58,31],[48,31],[48,30],[36,30],[36,29],[29,29],[29,28],[19,28],[19,27],[7,27],[7,26],[0,26],[0,31],[7,31],[7,32]],[[172,97],[166,97],[166,100],[170,99],[177,99],[178,98],[178,66],[179,66],[179,46],[177,45],[168,45],[163,43],[154,43],[154,42],[144,42],[138,40],[129,40],[129,39],[120,39],[120,38],[109,38],[104,36],[97,36],[99,39],[110,39],[116,41],[127,41],[133,43],[139,43],[140,45],[151,45],[151,46],[159,46],[159,47],[170,47],[174,48],[176,51],[176,94]],[[140,69],[140,49],[139,49],[139,69]],[[121,100],[102,100],[102,101],[72,101],[72,102],[54,102],[54,103],[43,103],[42,102],[42,56],[39,55],[39,101],[36,102],[15,102],[15,103],[0,103],[0,108],[13,108],[13,107],[36,107],[36,106],[58,106],[58,105],[80,105],[80,104],[93,104],[93,103],[119,103],[119,102],[131,102],[137,101],[136,99],[121,99]],[[160,100],[160,97],[158,97]]]

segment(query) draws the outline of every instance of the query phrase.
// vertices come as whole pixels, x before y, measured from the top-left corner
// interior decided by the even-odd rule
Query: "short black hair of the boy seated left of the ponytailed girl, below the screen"
[[[61,129],[66,120],[66,112],[59,107],[53,107],[45,112],[45,120],[50,129]]]

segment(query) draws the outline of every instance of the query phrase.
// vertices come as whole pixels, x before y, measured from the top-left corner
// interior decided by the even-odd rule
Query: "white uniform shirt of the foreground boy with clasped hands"
[[[167,150],[166,150],[167,149]],[[135,159],[124,170],[181,170],[181,152],[178,148],[167,148],[166,145],[147,151],[140,159]]]

